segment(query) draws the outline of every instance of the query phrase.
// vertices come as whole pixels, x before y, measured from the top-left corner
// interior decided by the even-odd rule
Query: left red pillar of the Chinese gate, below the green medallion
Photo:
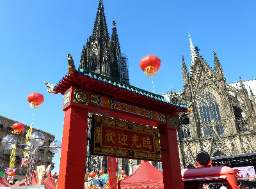
[[[65,109],[58,188],[84,188],[88,109]]]

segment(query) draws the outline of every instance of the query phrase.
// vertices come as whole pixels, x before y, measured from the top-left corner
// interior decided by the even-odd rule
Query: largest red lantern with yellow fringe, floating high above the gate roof
[[[140,61],[140,67],[147,77],[154,77],[157,70],[160,69],[161,60],[154,55],[144,56]]]

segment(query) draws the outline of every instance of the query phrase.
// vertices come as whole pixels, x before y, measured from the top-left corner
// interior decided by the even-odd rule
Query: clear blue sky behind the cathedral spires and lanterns
[[[190,65],[188,31],[194,46],[213,66],[215,49],[227,82],[255,77],[256,1],[117,1],[103,0],[108,31],[112,21],[122,52],[129,59],[133,86],[153,91],[140,59],[154,54],[161,68],[155,92],[182,90],[181,56]],[[92,34],[99,1],[0,1],[0,115],[26,125],[32,121],[29,93],[45,102],[35,116],[35,128],[62,139],[63,96],[47,93],[44,80],[56,84],[67,72],[67,54],[79,66],[81,50]],[[60,155],[54,157],[58,172]]]

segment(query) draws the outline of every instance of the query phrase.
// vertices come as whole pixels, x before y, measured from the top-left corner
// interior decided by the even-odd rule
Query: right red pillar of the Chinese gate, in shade
[[[182,188],[176,129],[167,124],[159,128],[164,189]]]

